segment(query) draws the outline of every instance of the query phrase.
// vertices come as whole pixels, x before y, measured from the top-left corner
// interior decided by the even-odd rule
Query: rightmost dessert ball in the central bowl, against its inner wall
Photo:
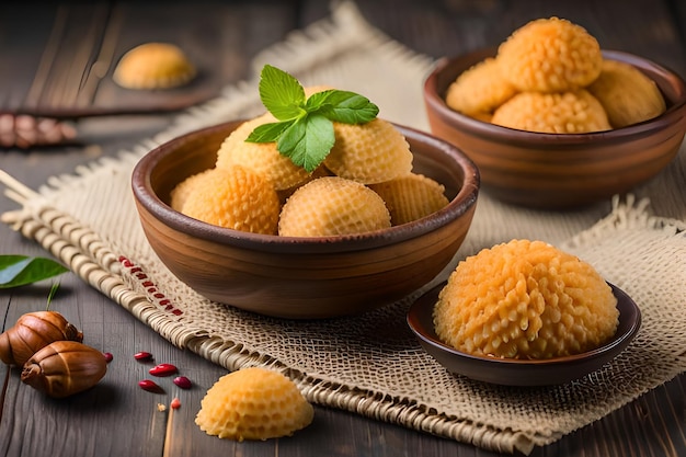
[[[423,174],[410,173],[385,183],[369,184],[390,213],[393,226],[411,222],[445,207],[445,186]]]

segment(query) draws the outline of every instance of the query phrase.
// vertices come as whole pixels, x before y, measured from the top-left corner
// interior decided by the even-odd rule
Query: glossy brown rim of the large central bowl
[[[178,136],[164,144],[155,147],[144,155],[132,173],[132,190],[135,199],[148,213],[158,220],[176,231],[192,233],[194,237],[211,242],[227,243],[253,250],[318,253],[357,251],[370,248],[395,244],[400,241],[421,237],[435,231],[451,220],[469,213],[476,205],[480,188],[480,173],[475,162],[458,147],[437,138],[426,132],[392,123],[405,137],[419,140],[430,147],[436,148],[443,155],[453,157],[464,172],[462,186],[448,205],[424,218],[389,227],[381,230],[368,231],[357,235],[344,235],[336,237],[283,237],[277,235],[252,233],[214,226],[188,217],[172,209],[152,190],[150,173],[153,164],[164,157],[173,153],[181,145],[198,139],[205,135],[217,133],[230,126],[238,126],[245,119],[236,119],[204,127]]]

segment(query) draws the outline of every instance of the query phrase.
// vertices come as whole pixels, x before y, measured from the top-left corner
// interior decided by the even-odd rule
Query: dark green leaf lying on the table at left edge
[[[0,255],[0,288],[19,287],[68,272],[58,262],[27,255]]]

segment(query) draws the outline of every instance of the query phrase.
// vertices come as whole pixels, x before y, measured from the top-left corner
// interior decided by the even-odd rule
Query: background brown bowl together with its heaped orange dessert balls
[[[498,48],[443,58],[424,82],[431,132],[511,204],[563,209],[655,176],[686,130],[686,84],[583,27],[529,22]]]

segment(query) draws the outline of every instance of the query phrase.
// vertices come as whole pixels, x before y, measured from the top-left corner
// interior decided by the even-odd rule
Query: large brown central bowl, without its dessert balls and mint
[[[476,165],[455,146],[401,126],[414,171],[443,183],[450,199],[423,219],[356,236],[295,238],[220,228],[173,210],[170,191],[214,167],[219,145],[239,124],[161,145],[132,178],[150,245],[174,275],[211,300],[281,318],[361,313],[428,283],[467,235],[479,192]]]

